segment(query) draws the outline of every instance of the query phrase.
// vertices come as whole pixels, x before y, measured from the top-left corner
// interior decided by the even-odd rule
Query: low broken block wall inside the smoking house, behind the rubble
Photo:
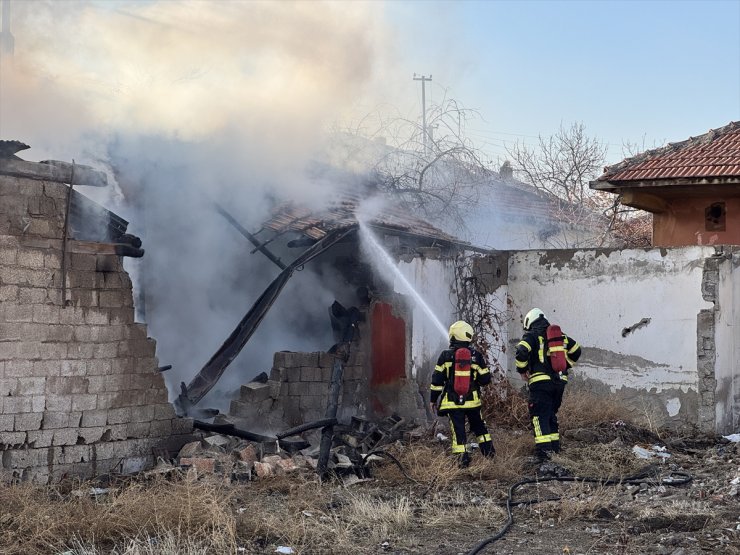
[[[275,353],[269,380],[242,386],[229,416],[248,421],[252,431],[262,424],[272,432],[324,418],[334,358],[325,352]],[[364,361],[364,353],[355,350],[343,364],[340,419],[343,414],[362,414],[368,389]]]

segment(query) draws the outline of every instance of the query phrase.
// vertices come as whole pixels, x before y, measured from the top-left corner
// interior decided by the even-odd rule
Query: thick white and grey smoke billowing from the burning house
[[[28,159],[108,169],[108,198],[85,193],[129,219],[144,241],[144,259],[127,265],[142,278],[160,364],[174,366],[166,374],[173,394],[279,272],[212,203],[255,231],[274,200],[321,205],[343,186],[308,177],[306,167],[329,125],[374,89],[379,67],[393,65],[376,8],[12,2],[15,55],[0,59],[0,138],[30,144]],[[297,253],[282,255],[289,262]],[[292,278],[220,391],[269,370],[274,351],[331,345],[327,309],[346,292],[340,278],[310,266]],[[226,399],[212,401],[227,408]]]

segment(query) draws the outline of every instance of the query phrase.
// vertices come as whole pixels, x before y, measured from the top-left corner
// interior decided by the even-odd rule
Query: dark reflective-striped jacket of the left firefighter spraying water
[[[455,402],[457,396],[453,390],[455,380],[455,351],[459,348],[469,349],[471,354],[470,389],[464,397],[462,404]],[[448,410],[477,408],[481,406],[480,388],[489,383],[491,383],[491,371],[488,369],[485,357],[470,347],[469,343],[453,341],[450,343],[450,348],[445,349],[439,355],[437,365],[434,367],[430,401],[436,404],[440,395],[442,396],[442,401],[439,405],[440,414]]]

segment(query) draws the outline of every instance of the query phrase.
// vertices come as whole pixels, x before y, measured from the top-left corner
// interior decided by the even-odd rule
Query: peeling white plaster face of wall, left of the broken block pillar
[[[697,328],[700,312],[714,309],[702,287],[714,254],[711,247],[511,253],[507,371],[516,376],[511,353],[523,315],[539,307],[584,346],[572,383],[665,420],[699,423]]]

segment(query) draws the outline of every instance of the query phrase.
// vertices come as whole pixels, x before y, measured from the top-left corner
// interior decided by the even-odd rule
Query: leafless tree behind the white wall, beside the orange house
[[[561,125],[555,135],[540,136],[536,147],[517,142],[507,151],[516,175],[553,203],[553,215],[563,224],[549,237],[553,246],[645,246],[645,213],[622,205],[618,195],[589,187],[603,170],[607,148],[589,137],[582,123]]]

